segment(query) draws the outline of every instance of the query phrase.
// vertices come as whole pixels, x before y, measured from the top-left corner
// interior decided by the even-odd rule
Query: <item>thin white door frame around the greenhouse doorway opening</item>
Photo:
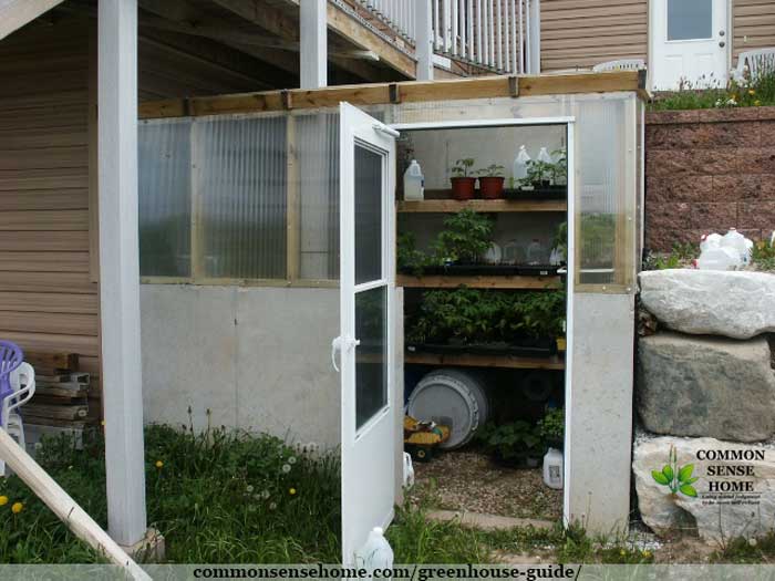
[[[568,160],[568,274],[567,274],[567,303],[566,303],[566,338],[567,346],[565,353],[565,450],[564,450],[564,480],[562,488],[562,522],[569,525],[570,517],[570,455],[572,453],[572,437],[570,434],[571,398],[572,398],[572,353],[574,353],[574,280],[576,272],[576,117],[527,117],[527,118],[495,118],[495,120],[471,120],[471,121],[432,121],[418,123],[395,123],[390,125],[393,129],[417,131],[417,129],[459,129],[469,127],[513,127],[513,126],[536,126],[536,125],[565,125],[567,127],[567,160]]]

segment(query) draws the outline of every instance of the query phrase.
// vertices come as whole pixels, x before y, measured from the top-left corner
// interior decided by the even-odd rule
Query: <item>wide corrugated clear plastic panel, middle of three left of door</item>
[[[195,123],[195,274],[286,278],[286,126],[285,116]]]

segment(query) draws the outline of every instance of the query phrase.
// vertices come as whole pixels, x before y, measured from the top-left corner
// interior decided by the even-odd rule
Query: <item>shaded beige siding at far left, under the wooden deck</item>
[[[78,353],[97,380],[86,25],[31,23],[0,41],[0,338]]]

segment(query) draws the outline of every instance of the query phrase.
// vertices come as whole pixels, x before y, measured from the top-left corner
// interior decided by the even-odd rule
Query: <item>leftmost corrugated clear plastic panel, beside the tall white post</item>
[[[190,276],[190,120],[137,127],[140,272]]]

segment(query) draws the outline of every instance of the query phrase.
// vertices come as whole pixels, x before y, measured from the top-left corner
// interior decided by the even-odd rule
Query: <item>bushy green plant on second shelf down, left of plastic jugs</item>
[[[493,221],[465,209],[444,220],[434,250],[440,262],[478,262],[493,243]]]

